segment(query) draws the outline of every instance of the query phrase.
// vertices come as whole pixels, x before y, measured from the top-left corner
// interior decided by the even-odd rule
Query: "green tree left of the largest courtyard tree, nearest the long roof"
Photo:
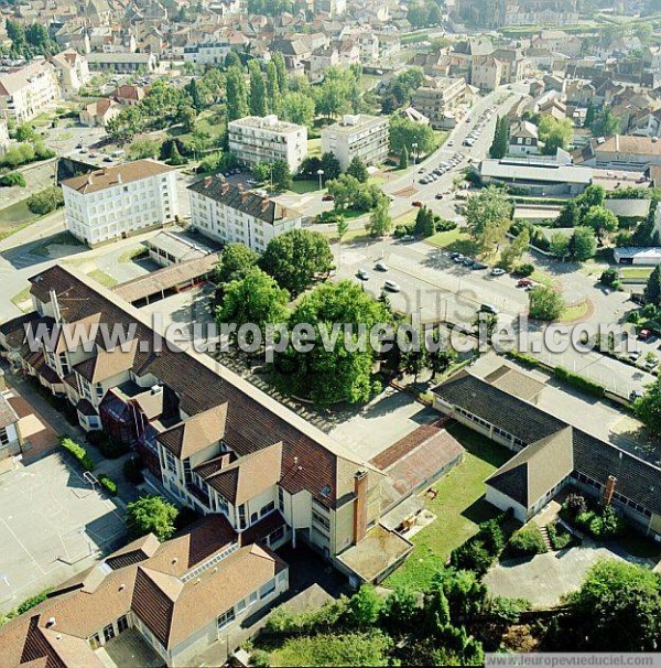
[[[225,287],[223,303],[216,312],[218,323],[236,323],[237,327],[254,323],[266,325],[286,321],[289,292],[261,269],[253,267],[241,280]]]

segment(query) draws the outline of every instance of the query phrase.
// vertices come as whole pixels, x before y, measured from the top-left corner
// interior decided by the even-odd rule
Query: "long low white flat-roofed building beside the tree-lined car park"
[[[483,160],[484,183],[527,188],[531,195],[579,195],[593,180],[593,170],[535,159]]]

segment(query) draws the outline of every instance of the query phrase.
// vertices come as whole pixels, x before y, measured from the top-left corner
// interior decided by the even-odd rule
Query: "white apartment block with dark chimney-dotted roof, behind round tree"
[[[241,243],[263,252],[273,237],[301,227],[299,212],[218,176],[202,179],[188,190],[192,226],[223,244]]]

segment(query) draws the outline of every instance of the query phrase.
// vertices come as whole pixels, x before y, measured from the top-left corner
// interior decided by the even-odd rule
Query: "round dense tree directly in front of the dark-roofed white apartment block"
[[[292,229],[269,241],[260,266],[281,288],[297,297],[316,278],[327,276],[334,263],[328,240],[321,233]]]

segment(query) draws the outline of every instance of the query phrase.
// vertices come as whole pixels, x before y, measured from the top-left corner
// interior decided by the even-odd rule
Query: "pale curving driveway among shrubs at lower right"
[[[599,559],[619,559],[607,548],[577,547],[546,552],[532,559],[508,559],[485,577],[492,596],[525,599],[533,607],[551,607],[577,590],[585,573]]]

